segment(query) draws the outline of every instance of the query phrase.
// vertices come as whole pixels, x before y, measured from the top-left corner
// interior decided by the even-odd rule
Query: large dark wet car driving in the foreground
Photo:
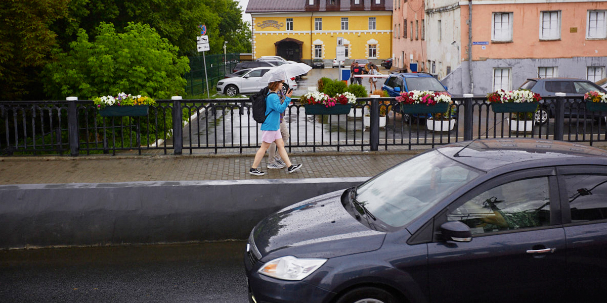
[[[594,302],[607,151],[481,139],[283,208],[251,231],[250,302]]]

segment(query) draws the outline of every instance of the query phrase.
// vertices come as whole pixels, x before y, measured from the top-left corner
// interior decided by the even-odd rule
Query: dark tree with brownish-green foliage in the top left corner
[[[53,21],[67,15],[68,0],[0,1],[0,100],[32,93],[42,67],[56,48]]]

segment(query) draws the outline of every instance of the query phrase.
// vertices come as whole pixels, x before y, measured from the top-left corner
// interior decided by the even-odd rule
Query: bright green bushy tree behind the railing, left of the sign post
[[[177,56],[177,47],[147,24],[129,23],[124,33],[101,23],[93,42],[85,30],[70,44],[70,51],[44,71],[44,89],[54,99],[92,98],[119,92],[165,99],[183,95],[181,77],[189,60]]]

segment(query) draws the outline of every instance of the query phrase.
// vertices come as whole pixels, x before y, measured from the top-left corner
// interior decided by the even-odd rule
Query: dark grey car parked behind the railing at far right
[[[519,89],[531,90],[531,92],[538,93],[540,96],[555,96],[556,93],[566,93],[567,96],[572,97],[583,97],[585,93],[592,90],[598,90],[599,92],[607,92],[605,88],[600,87],[585,79],[572,79],[572,78],[532,78],[527,79]],[[543,102],[543,101],[540,101]],[[544,123],[550,116],[554,117],[555,109],[550,107],[550,113],[546,112],[544,108],[540,108],[534,114],[535,122]],[[566,118],[584,118],[589,116],[586,113],[586,106],[584,102],[578,106],[565,106],[565,117]],[[603,116],[597,116],[597,119]]]

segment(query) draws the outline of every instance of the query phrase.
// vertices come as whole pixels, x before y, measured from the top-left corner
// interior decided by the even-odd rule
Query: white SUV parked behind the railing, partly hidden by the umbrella
[[[217,82],[217,92],[234,97],[243,93],[257,93],[263,87],[268,85],[267,82],[261,82],[262,76],[271,70],[273,67],[256,67],[251,68],[249,72],[244,73],[240,77],[232,77],[221,79]],[[288,87],[297,89],[295,78],[287,79],[287,85],[283,85],[283,91],[286,93]]]

